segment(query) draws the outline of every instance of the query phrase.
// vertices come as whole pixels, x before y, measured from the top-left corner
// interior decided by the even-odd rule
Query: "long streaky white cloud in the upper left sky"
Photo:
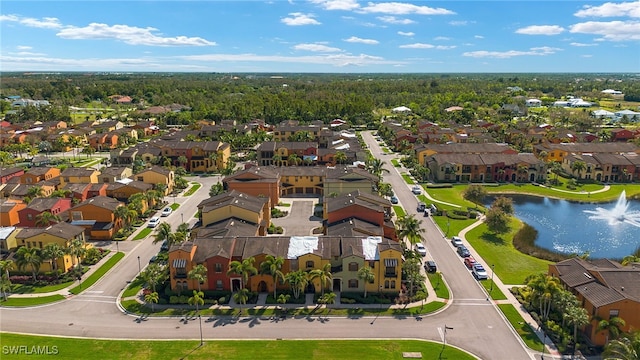
[[[130,45],[148,46],[214,46],[215,42],[200,37],[162,37],[155,35],[158,29],[139,28],[128,25],[91,23],[85,27],[67,27],[58,32],[59,37],[71,40],[114,39]]]

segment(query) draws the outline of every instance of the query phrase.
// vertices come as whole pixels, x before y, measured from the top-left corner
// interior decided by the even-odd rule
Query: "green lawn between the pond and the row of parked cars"
[[[496,275],[507,285],[519,285],[524,279],[535,273],[547,272],[551,263],[533,256],[523,254],[513,247],[513,235],[520,227],[520,220],[511,219],[511,231],[496,236],[487,231],[481,224],[466,234],[466,239],[486,262],[486,267],[495,265]]]

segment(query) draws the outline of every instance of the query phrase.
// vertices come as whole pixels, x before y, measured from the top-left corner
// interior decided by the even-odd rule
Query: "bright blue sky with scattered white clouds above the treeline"
[[[17,1],[1,71],[640,72],[640,1]]]

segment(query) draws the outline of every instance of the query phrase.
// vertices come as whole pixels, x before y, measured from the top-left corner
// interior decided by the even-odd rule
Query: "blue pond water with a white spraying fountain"
[[[590,253],[590,258],[623,258],[640,246],[640,227],[626,223],[610,225],[589,219],[584,210],[613,208],[615,202],[582,204],[535,196],[508,196],[515,216],[538,231],[536,245],[562,253]],[[493,198],[488,199],[489,203]],[[640,202],[629,201],[629,211],[640,210]]]

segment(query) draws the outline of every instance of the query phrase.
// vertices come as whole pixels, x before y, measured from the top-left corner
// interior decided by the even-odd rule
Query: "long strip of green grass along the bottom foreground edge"
[[[204,325],[204,324],[203,324]],[[211,324],[207,324],[211,326]],[[205,335],[206,336],[206,335]],[[57,349],[60,358],[84,359],[402,359],[403,352],[420,352],[424,359],[436,359],[442,344],[420,340],[95,340],[2,333],[3,348],[37,345]],[[9,348],[7,348],[9,349]],[[339,355],[337,353],[339,349]],[[55,356],[54,356],[55,357]],[[10,355],[29,359],[33,354]],[[471,360],[475,357],[446,347],[442,359]]]

